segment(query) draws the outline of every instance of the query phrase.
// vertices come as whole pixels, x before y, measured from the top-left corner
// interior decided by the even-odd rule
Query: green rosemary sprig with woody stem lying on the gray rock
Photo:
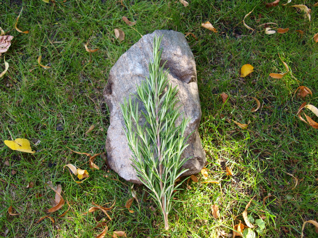
[[[141,182],[151,191],[151,195],[162,211],[165,229],[169,229],[168,214],[176,190],[178,178],[188,169],[181,169],[189,158],[181,158],[188,146],[189,136],[183,136],[189,119],[182,116],[180,125],[176,119],[181,116],[176,107],[176,87],[168,81],[169,69],[164,71],[165,63],[160,67],[162,36],[154,38],[153,62],[149,63],[149,78],[137,86],[134,102],[131,96],[124,99],[121,110],[127,131],[128,145],[133,152],[133,166]],[[139,103],[145,108],[138,115]],[[141,116],[146,123],[140,125]]]

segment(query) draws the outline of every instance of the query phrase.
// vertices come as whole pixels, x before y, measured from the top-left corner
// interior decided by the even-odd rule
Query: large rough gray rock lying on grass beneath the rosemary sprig
[[[153,40],[155,35],[163,34],[161,47],[162,63],[169,68],[168,79],[172,86],[178,85],[178,105],[186,118],[190,118],[184,136],[193,134],[188,139],[189,146],[183,152],[184,157],[192,157],[184,167],[189,170],[184,175],[199,172],[206,162],[198,134],[201,118],[201,107],[197,88],[197,71],[193,54],[182,33],[172,30],[156,30],[143,36],[126,53],[124,53],[109,73],[104,96],[110,111],[110,125],[107,131],[106,152],[108,164],[122,178],[130,182],[141,183],[131,166],[132,152],[124,133],[125,123],[120,105],[124,98],[136,94],[136,85],[149,77],[148,64],[152,59]]]

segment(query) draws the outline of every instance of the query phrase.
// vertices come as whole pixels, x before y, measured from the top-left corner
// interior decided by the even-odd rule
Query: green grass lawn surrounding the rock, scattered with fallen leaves
[[[112,220],[107,220],[106,237],[116,230],[125,231],[128,237],[222,237],[223,231],[232,233],[233,224],[244,222],[242,212],[256,195],[248,215],[262,218],[266,224],[264,234],[257,236],[300,237],[303,221],[317,219],[318,132],[295,116],[304,100],[294,95],[294,90],[307,86],[313,96],[306,101],[318,105],[318,45],[312,40],[318,32],[318,7],[312,1],[292,2],[311,8],[309,22],[302,13],[281,3],[266,8],[259,1],[248,2],[189,0],[189,6],[184,7],[168,0],[124,0],[124,6],[120,1],[59,0],[54,7],[40,0],[3,1],[0,24],[14,39],[0,57],[1,69],[4,56],[10,65],[0,79],[0,232],[8,231],[7,237],[94,237],[101,232],[98,228],[91,230],[97,224],[94,219],[107,217],[98,211],[81,214],[93,202],[110,206],[116,201],[109,212]],[[14,29],[22,6],[17,26],[30,30],[29,34]],[[242,20],[254,6],[245,19],[255,29],[251,33]],[[121,20],[122,16],[136,22],[134,29]],[[206,21],[218,33],[202,28],[201,23]],[[290,30],[265,35],[264,27],[258,25],[267,22]],[[114,38],[114,28],[125,32],[123,42]],[[198,38],[187,37],[197,64],[202,108],[199,132],[207,152],[209,179],[222,186],[221,193],[217,184],[200,183],[204,181],[200,174],[199,183],[189,183],[192,189],[184,185],[185,190],[178,196],[183,202],[169,214],[171,234],[162,231],[158,209],[153,212],[149,208],[155,206],[154,202],[143,201],[147,195],[142,186],[135,185],[140,206],[134,202],[131,209],[135,213],[129,213],[125,203],[131,197],[132,184],[107,169],[101,157],[95,160],[100,170],[92,171],[85,155],[66,148],[104,152],[109,112],[102,89],[108,72],[140,34],[155,29],[192,32]],[[304,36],[295,30],[303,30]],[[100,50],[86,52],[87,41],[89,48]],[[291,73],[272,79],[269,73],[285,72],[278,54]],[[51,69],[38,66],[39,55],[41,63]],[[240,68],[245,63],[252,64],[255,72],[242,78]],[[224,105],[219,96],[222,92],[229,95]],[[251,96],[261,102],[254,113],[250,109],[256,102]],[[251,120],[251,124],[242,130],[231,119],[241,123]],[[95,129],[85,135],[92,124]],[[59,126],[63,129],[57,130]],[[37,153],[8,149],[2,141],[10,135],[29,139]],[[81,184],[63,172],[66,163],[75,162],[90,175]],[[232,168],[231,178],[225,174],[225,165]],[[286,173],[298,178],[295,189],[294,179]],[[67,205],[52,214],[54,224],[49,219],[34,224],[52,206],[54,192],[45,186],[48,181],[62,185],[62,195],[71,209],[61,218],[58,216]],[[29,182],[34,183],[33,188],[26,188]],[[263,206],[268,193],[273,196]],[[219,219],[212,217],[212,204],[220,208]],[[8,214],[11,205],[20,215]],[[305,234],[317,236],[311,224],[306,225]]]

